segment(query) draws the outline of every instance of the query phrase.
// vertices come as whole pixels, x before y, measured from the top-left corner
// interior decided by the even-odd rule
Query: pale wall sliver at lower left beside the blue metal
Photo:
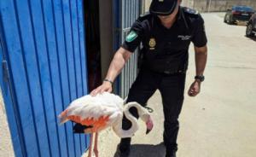
[[[9,125],[6,117],[6,112],[3,104],[2,91],[0,90],[0,156],[11,157],[15,156],[12,145]]]

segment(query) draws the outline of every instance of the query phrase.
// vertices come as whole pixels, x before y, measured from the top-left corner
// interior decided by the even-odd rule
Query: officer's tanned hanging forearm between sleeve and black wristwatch
[[[207,45],[203,47],[195,46],[196,75],[203,75],[206,65],[207,65]]]

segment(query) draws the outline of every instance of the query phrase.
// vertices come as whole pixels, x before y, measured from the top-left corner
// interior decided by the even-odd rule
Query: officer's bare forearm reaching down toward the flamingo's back
[[[119,50],[113,56],[113,60],[108,68],[107,79],[114,81],[114,79],[119,75],[122,71],[123,67],[125,67],[125,63],[129,60],[132,53],[129,50],[124,48],[119,48]]]

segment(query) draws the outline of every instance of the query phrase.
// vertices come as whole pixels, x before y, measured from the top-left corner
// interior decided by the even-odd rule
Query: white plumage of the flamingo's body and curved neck
[[[59,118],[61,119],[62,124],[68,120],[68,116],[79,116],[81,120],[97,120],[101,117],[108,117],[108,120],[106,120],[106,125],[104,125],[98,131],[101,131],[108,126],[112,126],[113,131],[119,137],[132,137],[138,130],[138,124],[137,119],[129,112],[129,108],[136,107],[139,116],[149,113],[137,102],[129,102],[126,105],[125,102],[126,100],[124,101],[121,97],[108,92],[103,92],[102,94],[98,94],[96,96],[82,96],[79,99],[74,100],[67,107],[67,109],[60,114]],[[131,128],[127,131],[122,129],[122,119],[124,114],[132,124]],[[145,121],[145,119],[143,120]]]

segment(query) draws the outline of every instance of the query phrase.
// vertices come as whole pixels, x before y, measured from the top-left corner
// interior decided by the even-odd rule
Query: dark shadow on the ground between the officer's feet
[[[150,144],[132,144],[130,157],[165,157],[166,147],[163,142],[157,145]],[[118,151],[113,157],[119,157]]]

